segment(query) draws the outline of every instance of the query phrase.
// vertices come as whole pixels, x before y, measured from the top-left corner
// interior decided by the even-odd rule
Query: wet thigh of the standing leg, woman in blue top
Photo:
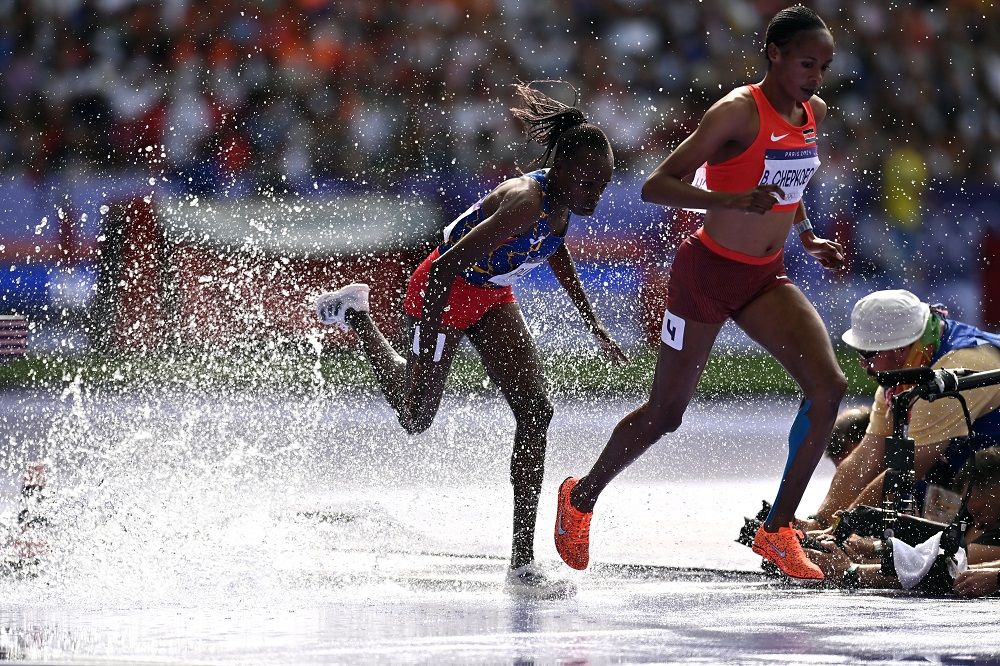
[[[491,308],[467,334],[509,404],[547,395],[542,358],[517,303]]]

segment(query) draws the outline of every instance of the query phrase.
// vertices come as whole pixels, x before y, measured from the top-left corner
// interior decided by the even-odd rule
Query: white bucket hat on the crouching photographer
[[[841,339],[862,351],[905,347],[920,339],[931,308],[905,289],[875,291],[854,304]]]

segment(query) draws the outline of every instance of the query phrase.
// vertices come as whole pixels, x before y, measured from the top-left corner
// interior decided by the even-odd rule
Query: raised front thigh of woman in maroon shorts
[[[746,305],[736,325],[781,363],[804,390],[840,373],[830,335],[798,287],[783,284]]]

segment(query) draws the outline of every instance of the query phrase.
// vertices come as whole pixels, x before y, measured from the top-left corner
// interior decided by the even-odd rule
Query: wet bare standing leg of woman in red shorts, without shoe
[[[514,490],[511,568],[534,559],[535,520],[542,489],[545,447],[552,403],[541,357],[515,303],[489,310],[468,330],[490,379],[500,388],[517,424],[510,459]]]

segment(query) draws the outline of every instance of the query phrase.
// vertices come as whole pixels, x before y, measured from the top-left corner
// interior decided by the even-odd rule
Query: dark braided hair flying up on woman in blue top
[[[573,105],[567,106],[536,90],[536,83],[562,83],[573,89]],[[611,145],[608,137],[599,127],[587,122],[587,117],[576,107],[577,89],[565,81],[532,81],[515,83],[518,96],[524,106],[514,107],[511,112],[527,128],[528,138],[545,146],[545,152],[532,160],[529,166],[541,168],[549,163],[549,158],[557,162],[563,156],[576,153],[580,148],[606,150]],[[553,154],[554,153],[554,154]]]

